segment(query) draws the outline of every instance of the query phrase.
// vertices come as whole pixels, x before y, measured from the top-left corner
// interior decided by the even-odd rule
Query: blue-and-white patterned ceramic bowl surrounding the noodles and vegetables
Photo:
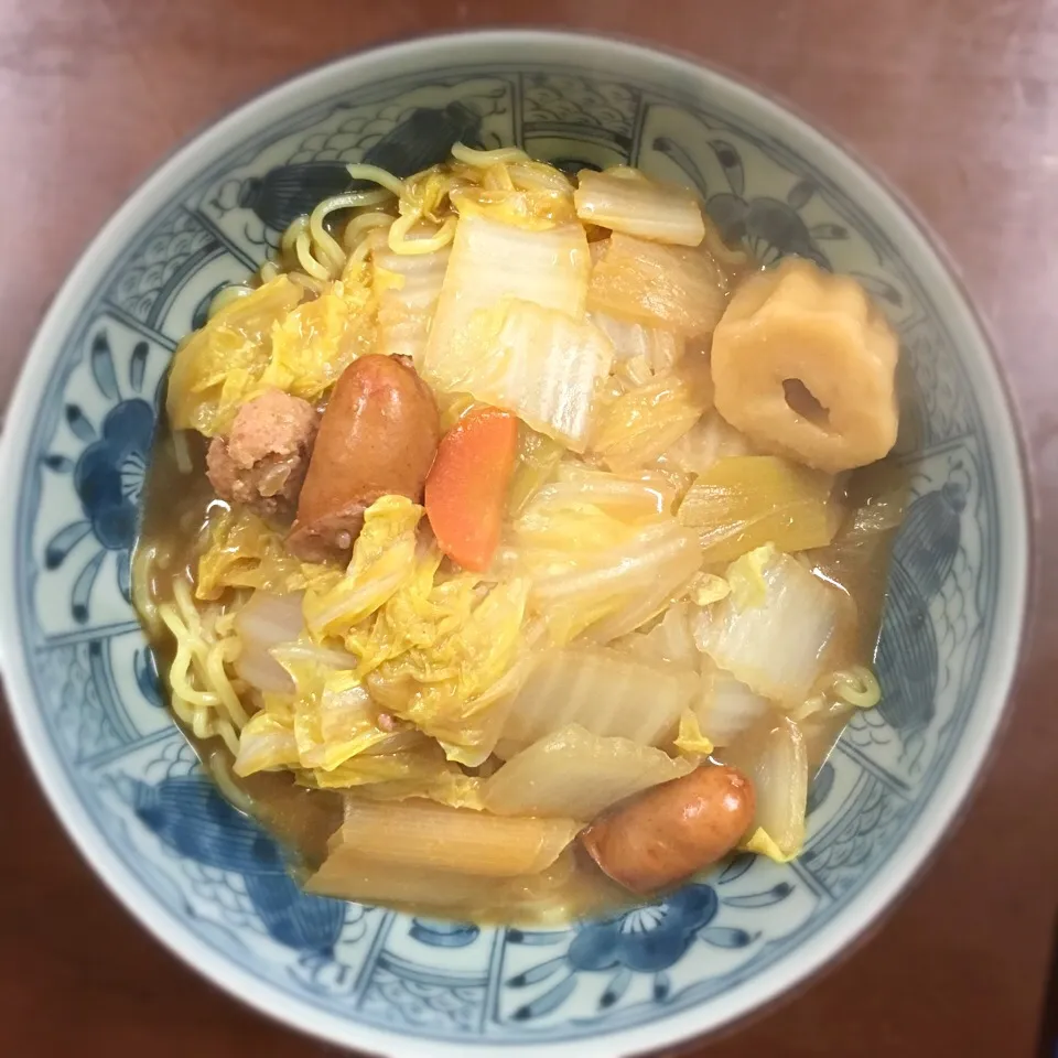
[[[805,855],[739,857],[606,921],[478,929],[304,896],[199,775],[129,596],[160,382],[223,283],[367,158],[412,171],[455,139],[695,186],[765,259],[860,278],[899,330],[902,458],[884,703],[811,791]],[[310,1033],[402,1058],[466,1045],[627,1055],[745,1014],[842,949],[941,838],[1015,667],[1027,516],[981,327],[936,249],[856,162],[754,91],[668,55],[552,33],[433,37],[290,82],[184,147],[77,264],[3,438],[0,604],[18,727],[55,810],[118,897],[222,987]],[[100,938],[100,942],[102,938]]]

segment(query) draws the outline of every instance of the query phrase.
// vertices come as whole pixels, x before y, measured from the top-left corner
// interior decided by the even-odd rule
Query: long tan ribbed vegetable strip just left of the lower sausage
[[[550,866],[577,830],[571,819],[507,818],[428,801],[349,798],[342,843],[381,863],[514,877]]]

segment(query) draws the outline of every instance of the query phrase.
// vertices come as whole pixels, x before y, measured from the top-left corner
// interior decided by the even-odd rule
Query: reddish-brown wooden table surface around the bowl
[[[1034,641],[968,812],[868,940],[687,1052],[1034,1054],[1058,903],[1058,0],[0,0],[0,390],[85,242],[204,122],[373,41],[499,21],[682,48],[843,137],[951,249],[1035,464]],[[214,991],[133,924],[67,842],[6,721],[0,864],[4,1056],[335,1054]]]

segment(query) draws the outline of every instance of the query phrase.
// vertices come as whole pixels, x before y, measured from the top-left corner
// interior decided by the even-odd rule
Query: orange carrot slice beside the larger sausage
[[[427,517],[441,550],[466,570],[493,561],[517,446],[518,419],[498,408],[467,412],[441,439],[427,477]]]

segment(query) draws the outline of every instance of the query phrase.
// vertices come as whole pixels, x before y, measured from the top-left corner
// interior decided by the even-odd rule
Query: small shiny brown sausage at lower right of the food
[[[755,808],[749,779],[735,768],[706,765],[604,816],[581,843],[615,882],[645,896],[725,856]]]

